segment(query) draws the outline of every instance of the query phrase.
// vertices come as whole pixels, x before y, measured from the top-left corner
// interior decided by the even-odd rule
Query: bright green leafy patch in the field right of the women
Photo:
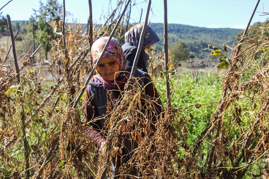
[[[154,81],[163,79],[158,77]],[[196,83],[192,74],[187,73],[183,76],[170,77],[170,82],[176,86],[171,92],[171,104],[180,109],[184,118],[189,120],[188,143],[192,144],[201,135],[218,105],[218,99],[222,94],[220,77],[214,72],[201,73],[201,80]],[[161,84],[155,83],[155,86],[158,92],[166,90],[164,81]],[[166,95],[161,96],[161,101],[166,104]]]

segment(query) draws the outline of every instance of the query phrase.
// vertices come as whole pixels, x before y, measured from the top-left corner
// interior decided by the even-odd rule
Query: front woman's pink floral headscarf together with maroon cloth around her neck
[[[93,59],[93,64],[92,64],[93,66],[94,64],[96,64],[98,58],[103,52],[103,49],[106,45],[108,38],[109,37],[99,38],[92,44],[91,56]],[[120,43],[115,38],[112,38],[111,41],[109,42],[108,47],[103,57],[109,57],[109,58],[114,59],[120,65],[120,71],[126,71],[127,61],[124,57],[124,52],[120,46]],[[118,78],[116,79],[117,85],[119,85],[120,87],[123,87],[128,81],[128,77],[129,75],[126,75],[125,73],[120,73]],[[114,81],[107,81],[104,78],[102,78],[102,81],[103,81],[103,86],[105,89],[108,89],[108,90],[118,89]]]

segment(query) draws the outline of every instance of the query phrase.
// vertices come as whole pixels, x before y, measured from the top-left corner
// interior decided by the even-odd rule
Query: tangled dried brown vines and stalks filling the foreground
[[[99,33],[94,31],[95,38],[109,33],[110,27],[103,28]],[[123,30],[118,30],[117,37],[122,36],[120,32]],[[268,33],[268,28],[263,32]],[[106,117],[106,132],[111,136],[106,142],[110,147],[100,157],[81,124],[84,102],[71,109],[85,75],[91,70],[86,34],[82,35],[80,49],[71,35],[67,36],[67,50],[72,52],[68,58],[63,55],[61,38],[54,41],[49,61],[37,55],[39,63],[31,64],[29,54],[22,57],[19,85],[15,83],[12,58],[4,61],[1,55],[1,177],[26,177],[20,121],[22,106],[33,178],[41,169],[44,169],[42,178],[100,178],[104,171],[107,177],[119,178],[242,178],[245,174],[268,177],[265,160],[268,160],[269,150],[269,64],[262,65],[263,61],[268,61],[267,37],[259,34],[261,38],[256,41],[246,39],[244,50],[231,59],[232,67],[223,81],[226,95],[220,99],[197,141],[187,143],[187,121],[191,119],[184,118],[183,109],[162,106],[158,113],[156,99],[147,98],[138,79],[134,79],[132,90],[122,91],[120,100],[110,101],[114,106]],[[260,54],[261,58],[257,58]],[[46,74],[54,76],[51,88],[42,85],[44,78],[40,77]],[[20,87],[22,92],[17,94]],[[171,88],[175,93],[176,84]],[[141,112],[141,101],[145,104],[144,112]],[[120,122],[127,119],[132,123],[131,132],[119,134]],[[57,137],[59,145],[48,163],[42,166]],[[114,148],[124,147],[123,137],[131,138],[135,146],[130,151],[131,157],[113,173]],[[120,154],[120,150],[118,152]]]

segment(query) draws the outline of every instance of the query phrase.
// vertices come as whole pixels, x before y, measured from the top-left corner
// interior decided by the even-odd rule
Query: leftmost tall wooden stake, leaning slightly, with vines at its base
[[[21,82],[20,79],[20,71],[19,71],[19,65],[17,61],[17,54],[16,54],[16,47],[15,47],[15,39],[13,36],[13,31],[12,31],[12,25],[11,25],[11,20],[10,16],[7,15],[7,24],[8,24],[8,29],[10,33],[10,38],[11,38],[11,43],[12,43],[12,52],[13,52],[13,58],[14,58],[14,64],[15,64],[15,69],[16,69],[16,77],[17,77],[17,84],[19,85]],[[18,90],[17,92],[20,93],[22,90]],[[24,158],[25,158],[25,170],[26,170],[26,175],[27,178],[30,178],[30,171],[29,171],[29,153],[28,153],[28,143],[27,143],[27,138],[25,134],[25,115],[24,115],[24,110],[23,110],[23,105],[21,106],[21,121],[22,121],[22,137],[23,137],[23,146],[24,146]]]

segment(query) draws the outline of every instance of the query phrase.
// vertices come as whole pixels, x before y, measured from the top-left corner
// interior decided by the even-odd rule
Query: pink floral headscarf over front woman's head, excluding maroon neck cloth
[[[93,59],[93,66],[97,62],[99,56],[103,52],[106,42],[109,37],[102,37],[97,39],[91,47],[91,56]],[[120,46],[120,43],[112,37],[103,57],[109,57],[114,59],[120,65],[120,71],[126,71],[127,62],[124,58],[124,52]]]

